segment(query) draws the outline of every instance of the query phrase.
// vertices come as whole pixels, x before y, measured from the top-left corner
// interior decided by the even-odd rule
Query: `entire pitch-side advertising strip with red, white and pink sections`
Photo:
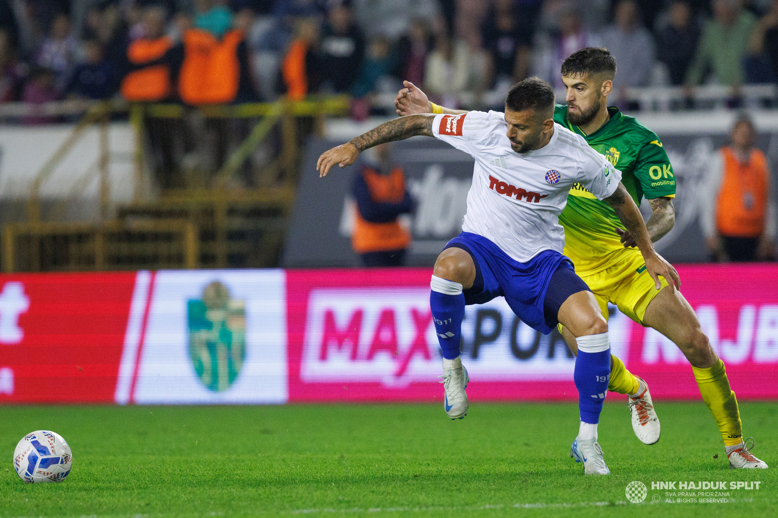
[[[738,398],[778,398],[778,265],[678,271]],[[0,275],[0,404],[440,401],[430,274]],[[654,397],[699,399],[674,344],[615,308],[609,329],[612,352]],[[468,306],[462,335],[471,400],[576,399],[562,338],[534,331],[502,298]],[[40,376],[52,383],[41,388]]]

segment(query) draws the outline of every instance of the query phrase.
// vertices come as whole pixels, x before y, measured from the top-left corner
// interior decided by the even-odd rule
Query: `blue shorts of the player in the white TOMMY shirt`
[[[450,240],[446,248],[450,247],[465,250],[475,263],[475,282],[464,290],[465,304],[483,304],[503,296],[517,317],[543,334],[559,324],[559,307],[567,297],[589,291],[572,261],[555,250],[543,250],[520,263],[491,240],[469,232]]]

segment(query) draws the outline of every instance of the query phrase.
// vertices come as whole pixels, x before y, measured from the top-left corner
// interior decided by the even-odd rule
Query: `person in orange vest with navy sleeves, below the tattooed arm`
[[[357,207],[352,247],[366,267],[402,266],[411,234],[398,216],[413,212],[415,201],[405,187],[402,167],[391,160],[390,145],[373,149],[374,159],[368,158],[373,163],[363,165],[352,184]]]

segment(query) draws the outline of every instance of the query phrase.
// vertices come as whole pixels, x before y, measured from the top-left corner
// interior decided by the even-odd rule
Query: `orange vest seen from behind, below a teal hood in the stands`
[[[178,93],[184,103],[223,104],[235,100],[240,84],[237,47],[244,40],[240,29],[221,40],[205,30],[184,33],[184,62],[178,75]]]

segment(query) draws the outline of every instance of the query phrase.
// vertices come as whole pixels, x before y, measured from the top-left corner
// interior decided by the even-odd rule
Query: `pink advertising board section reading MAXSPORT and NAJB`
[[[778,267],[678,267],[682,292],[741,399],[778,397]],[[287,271],[289,401],[438,401],[429,269]],[[559,334],[532,330],[502,298],[468,306],[463,361],[473,401],[574,400]],[[696,399],[689,362],[612,308],[612,351],[654,397]],[[611,397],[618,397],[611,394]]]

